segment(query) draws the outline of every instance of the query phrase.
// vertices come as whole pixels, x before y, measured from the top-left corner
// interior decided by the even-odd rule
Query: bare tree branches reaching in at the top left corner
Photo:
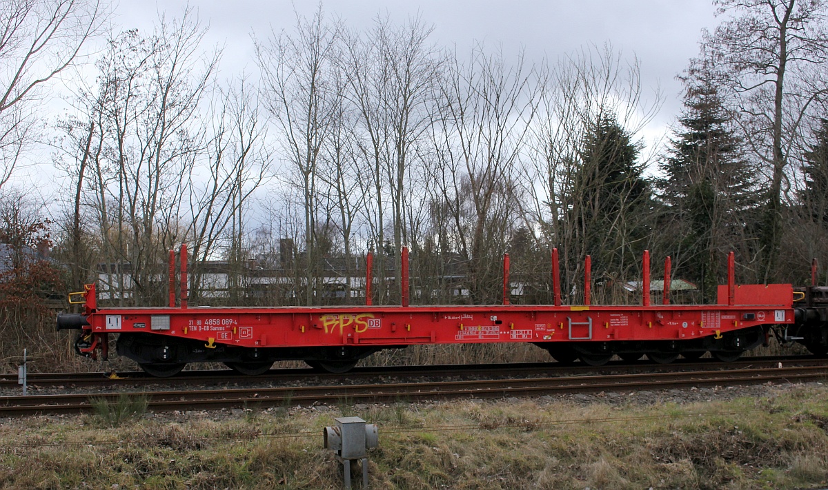
[[[32,104],[41,88],[78,59],[108,17],[102,0],[0,3],[0,187],[31,141]]]

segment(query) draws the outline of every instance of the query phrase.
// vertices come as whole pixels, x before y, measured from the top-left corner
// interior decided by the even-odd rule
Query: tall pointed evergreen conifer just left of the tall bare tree
[[[729,127],[714,84],[686,80],[681,127],[660,163],[665,174],[671,248],[682,258],[682,276],[700,285],[702,300],[715,300],[720,257],[744,236],[744,214],[755,202],[755,185],[738,137]]]

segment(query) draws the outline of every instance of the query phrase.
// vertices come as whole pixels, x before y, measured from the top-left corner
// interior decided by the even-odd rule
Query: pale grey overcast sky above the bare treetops
[[[148,31],[158,12],[177,17],[184,0],[152,2],[121,0],[114,21],[123,28]],[[291,29],[295,11],[311,16],[315,1],[192,0],[202,22],[209,24],[208,41],[224,46],[222,75],[245,68],[254,72],[251,33],[267,36]],[[681,110],[681,84],[675,77],[698,52],[704,27],[717,23],[712,2],[705,0],[329,0],[325,12],[341,17],[349,26],[364,28],[382,12],[404,20],[419,13],[434,25],[433,40],[440,46],[456,45],[460,52],[474,41],[503,46],[507,59],[521,48],[528,60],[544,56],[556,60],[590,43],[610,41],[641,61],[643,88],[652,94],[660,86],[665,96],[662,111],[648,128],[647,139],[672,123]]]

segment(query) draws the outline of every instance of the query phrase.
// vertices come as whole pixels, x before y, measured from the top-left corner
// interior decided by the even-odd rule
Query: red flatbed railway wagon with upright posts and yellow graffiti
[[[184,247],[181,255],[180,306],[171,293],[168,307],[99,308],[90,285],[73,293],[83,295],[84,314],[59,315],[58,329],[81,329],[77,351],[93,358],[99,352],[106,358],[108,335],[118,334],[120,355],[165,377],[186,363],[223,362],[238,372],[258,374],[274,361],[288,359],[345,372],[383,348],[446,343],[534,343],[558,361],[580,358],[591,365],[615,354],[627,360],[647,354],[669,363],[680,354],[699,358],[710,351],[732,360],[767,343],[771,325],[787,327],[797,316],[791,285],[735,285],[732,253],[729,283],[720,286],[716,305],[669,305],[669,286],[662,304],[651,305],[647,252],[642,305],[561,305],[555,251],[554,305],[508,304],[507,257],[503,305],[410,306],[404,257],[402,305],[272,308],[188,307]],[[669,285],[669,259],[666,267]],[[585,293],[589,303],[588,287]]]

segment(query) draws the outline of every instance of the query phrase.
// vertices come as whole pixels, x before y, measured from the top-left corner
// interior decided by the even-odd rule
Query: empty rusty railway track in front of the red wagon
[[[583,392],[619,392],[750,385],[767,382],[808,382],[828,379],[825,361],[807,366],[733,366],[673,372],[637,372],[567,377],[512,377],[507,379],[429,382],[383,382],[361,385],[300,387],[243,387],[233,389],[130,392],[146,396],[152,411],[216,410],[220,408],[267,408],[313,403],[374,403],[456,398],[541,396]],[[712,364],[712,363],[711,363]],[[121,393],[71,393],[61,395],[0,396],[0,416],[67,414],[91,411],[89,398],[115,401]]]

